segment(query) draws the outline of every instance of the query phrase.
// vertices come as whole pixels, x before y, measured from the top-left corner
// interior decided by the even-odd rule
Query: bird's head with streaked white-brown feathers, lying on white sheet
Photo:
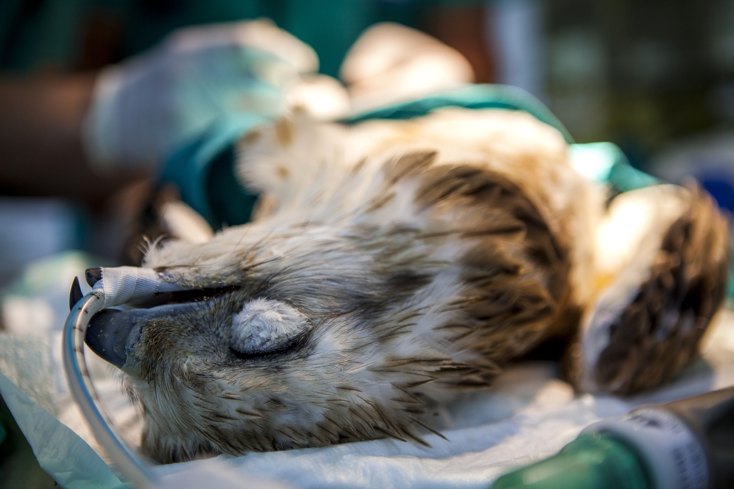
[[[406,229],[316,224],[170,241],[145,268],[102,269],[95,287],[134,309],[98,313],[87,345],[126,372],[161,462],[420,441],[431,381],[476,374],[441,346],[457,312],[430,249]]]

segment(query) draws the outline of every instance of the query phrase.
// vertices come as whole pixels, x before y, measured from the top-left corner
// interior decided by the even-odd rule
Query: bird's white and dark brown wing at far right
[[[597,278],[608,284],[570,363],[581,389],[633,394],[669,380],[697,353],[726,293],[730,234],[694,184],[615,201],[597,233]]]

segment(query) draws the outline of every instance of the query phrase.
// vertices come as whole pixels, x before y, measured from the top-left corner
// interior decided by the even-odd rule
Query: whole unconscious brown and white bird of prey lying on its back
[[[694,358],[724,298],[728,224],[708,194],[609,201],[522,111],[347,126],[295,110],[238,151],[261,195],[250,224],[87,277],[133,307],[93,317],[87,344],[125,372],[161,463],[424,443],[426,407],[552,337],[578,389],[650,389]]]

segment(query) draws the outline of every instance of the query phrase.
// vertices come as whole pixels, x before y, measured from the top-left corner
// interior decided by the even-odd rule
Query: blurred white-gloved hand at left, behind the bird
[[[272,116],[316,53],[268,21],[179,29],[159,45],[105,68],[84,122],[97,170],[152,166],[222,115]]]

